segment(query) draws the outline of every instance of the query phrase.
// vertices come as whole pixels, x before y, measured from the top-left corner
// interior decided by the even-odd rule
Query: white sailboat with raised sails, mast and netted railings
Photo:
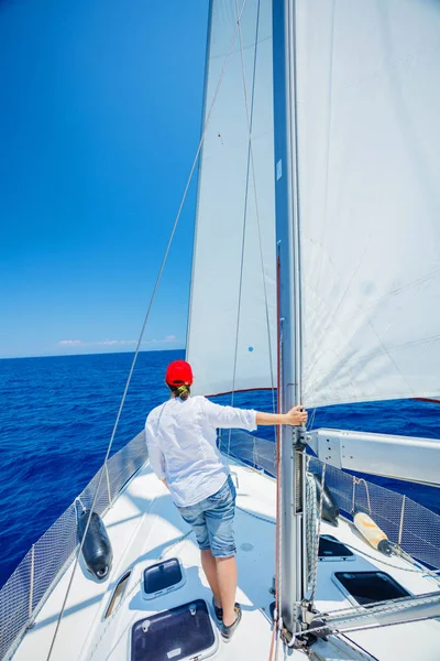
[[[436,0],[211,0],[195,393],[277,389],[311,422],[440,397],[439,35]],[[438,486],[440,441],[283,427],[275,445],[219,444],[243,609],[228,646],[141,431],[0,592],[1,658],[439,659],[440,517],[359,473]],[[112,548],[101,575],[78,543],[91,510]]]

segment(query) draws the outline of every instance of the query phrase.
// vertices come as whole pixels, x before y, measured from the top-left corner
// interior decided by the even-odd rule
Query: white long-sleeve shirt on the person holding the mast
[[[218,427],[256,430],[256,411],[220,407],[205,397],[172,398],[156,407],[145,423],[150,464],[166,478],[173,500],[189,507],[212,496],[229,475],[216,445]]]

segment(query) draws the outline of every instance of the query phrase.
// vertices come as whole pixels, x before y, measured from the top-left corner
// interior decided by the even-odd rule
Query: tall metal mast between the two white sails
[[[295,0],[273,1],[275,202],[279,288],[282,411],[301,402],[301,283],[296,124]],[[305,429],[283,426],[280,511],[280,616],[300,630],[307,590],[305,553]]]

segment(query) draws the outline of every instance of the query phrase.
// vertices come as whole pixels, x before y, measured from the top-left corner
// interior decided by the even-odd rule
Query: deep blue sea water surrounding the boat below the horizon
[[[184,351],[139,355],[113,443],[117,452],[167,398],[164,373]],[[0,586],[102,464],[132,354],[0,360]],[[228,403],[229,398],[217,398]],[[267,392],[235,405],[271,411]],[[440,437],[440,408],[414,400],[318,409],[314,426]],[[263,427],[266,437],[272,430]],[[436,488],[375,478],[440,513]]]

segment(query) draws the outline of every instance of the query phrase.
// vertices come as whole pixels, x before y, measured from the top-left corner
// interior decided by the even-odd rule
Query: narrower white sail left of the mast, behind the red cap
[[[237,6],[240,12],[242,0],[211,3],[204,123],[234,34]],[[257,197],[237,32],[199,173],[187,359],[194,391],[205,394],[276,383],[271,375],[271,354],[276,362],[271,0],[248,0],[241,34]]]

